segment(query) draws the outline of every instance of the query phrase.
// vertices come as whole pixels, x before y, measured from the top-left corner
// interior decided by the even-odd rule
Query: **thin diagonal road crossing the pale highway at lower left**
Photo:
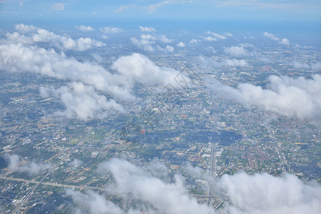
[[[65,161],[65,160],[70,156],[70,154],[73,153],[73,151],[75,151],[79,146],[81,146],[81,145],[83,144],[83,141],[85,141],[88,136],[89,136],[89,132],[86,133],[86,135],[83,136],[83,138],[82,138],[80,141],[78,141],[78,143],[76,144],[76,146],[74,146],[74,147],[71,149],[71,151],[69,151],[68,153],[66,153],[66,156],[64,156],[64,157],[61,159],[61,161],[59,161],[59,163],[57,163],[56,165],[54,165],[52,168],[50,168],[50,169],[48,170],[48,172],[46,173],[46,175],[44,175],[44,176],[41,178],[41,180],[40,180],[38,183],[36,183],[36,185],[34,186],[34,188],[32,188],[32,190],[26,195],[26,197],[24,197],[24,199],[21,200],[21,203],[19,203],[19,205],[16,206],[16,208],[12,211],[12,213],[17,213],[17,211],[21,208],[21,205],[23,205],[23,204],[26,202],[26,200],[28,200],[28,199],[30,198],[30,196],[31,196],[32,194],[34,194],[34,191],[39,187],[39,185],[41,185],[41,183],[43,183],[44,180],[45,180],[51,173],[53,173],[55,170],[57,170],[58,167],[59,167],[59,165],[61,165],[61,163],[63,163],[63,161]]]

